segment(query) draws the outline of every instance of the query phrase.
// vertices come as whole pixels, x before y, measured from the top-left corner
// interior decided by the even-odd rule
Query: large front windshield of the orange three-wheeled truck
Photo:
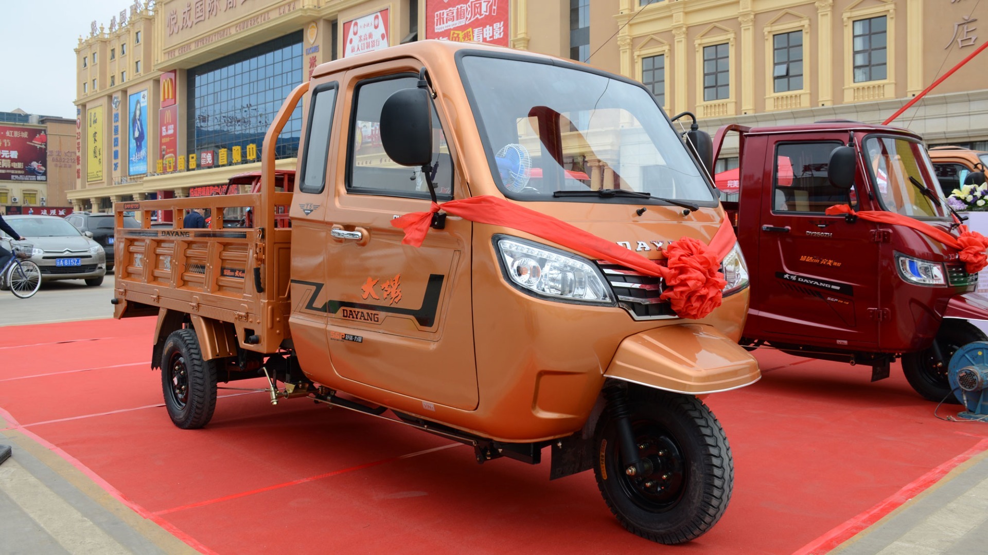
[[[557,191],[625,190],[714,201],[645,89],[545,63],[461,59],[491,173],[507,197],[552,200]]]

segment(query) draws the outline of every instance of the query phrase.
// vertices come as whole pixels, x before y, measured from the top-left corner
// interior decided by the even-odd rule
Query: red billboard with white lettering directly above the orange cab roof
[[[426,39],[508,46],[508,0],[426,0]]]

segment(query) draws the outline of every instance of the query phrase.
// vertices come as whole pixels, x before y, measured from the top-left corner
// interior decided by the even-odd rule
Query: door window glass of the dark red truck
[[[830,153],[840,141],[782,143],[773,167],[773,203],[776,212],[822,213],[834,204],[857,207],[854,189],[834,187],[827,179]]]

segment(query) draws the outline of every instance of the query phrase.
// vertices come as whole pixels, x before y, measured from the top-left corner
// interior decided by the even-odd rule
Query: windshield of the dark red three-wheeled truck
[[[940,183],[919,142],[872,135],[864,139],[864,153],[871,181],[886,210],[920,219],[947,217]],[[924,194],[923,188],[936,199]]]

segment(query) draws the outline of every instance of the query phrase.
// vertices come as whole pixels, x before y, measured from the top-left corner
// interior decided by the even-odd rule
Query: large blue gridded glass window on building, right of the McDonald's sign
[[[258,161],[268,125],[301,82],[300,31],[189,69],[188,152],[226,148],[230,163]],[[299,103],[278,137],[277,158],[297,154],[301,128]]]

